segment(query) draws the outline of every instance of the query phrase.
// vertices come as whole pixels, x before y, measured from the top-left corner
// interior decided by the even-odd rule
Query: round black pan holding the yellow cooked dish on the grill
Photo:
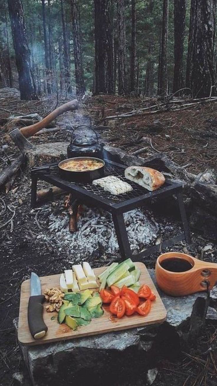
[[[92,160],[92,161],[98,161],[102,164],[102,166],[98,169],[94,170],[86,170],[86,171],[71,171],[66,170],[63,168],[63,166],[66,166],[67,163],[70,161],[75,160]],[[58,164],[59,168],[59,174],[62,178],[67,179],[67,181],[74,181],[74,182],[92,182],[94,179],[98,179],[104,176],[104,166],[105,163],[102,159],[94,158],[94,157],[74,157],[74,158],[68,158],[64,159]]]

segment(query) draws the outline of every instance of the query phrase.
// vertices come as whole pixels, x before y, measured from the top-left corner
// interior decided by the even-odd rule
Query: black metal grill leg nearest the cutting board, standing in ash
[[[124,259],[127,259],[128,257],[132,257],[132,252],[130,250],[130,243],[126,232],[126,226],[124,223],[123,213],[118,213],[118,214],[112,213],[112,218],[114,222],[114,227],[115,227],[119,250],[120,250],[122,259],[124,260]]]

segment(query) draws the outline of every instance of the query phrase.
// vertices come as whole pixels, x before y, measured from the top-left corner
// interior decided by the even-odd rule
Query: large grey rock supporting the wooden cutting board
[[[154,270],[149,273],[155,282]],[[180,353],[181,340],[186,339],[186,334],[193,334],[190,326],[193,314],[197,313],[197,303],[199,301],[199,314],[202,315],[201,305],[205,307],[207,298],[203,292],[171,297],[158,291],[167,309],[167,320],[160,326],[148,325],[32,347],[20,345],[34,386],[59,386],[71,384],[72,380],[85,386],[89,385],[90,379],[94,386],[102,383],[135,386],[140,384],[140,375],[144,376],[145,372],[146,381],[151,384],[156,376],[156,371],[152,370],[159,360],[156,353],[171,358]],[[209,310],[209,318],[214,311],[213,308]],[[204,320],[200,320],[200,327],[203,323]],[[18,320],[14,324],[17,329]]]

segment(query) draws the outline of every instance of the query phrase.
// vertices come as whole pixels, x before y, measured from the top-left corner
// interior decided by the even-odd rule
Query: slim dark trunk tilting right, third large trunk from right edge
[[[168,19],[169,19],[169,0],[163,0],[161,53],[160,53],[160,68],[159,68],[159,83],[158,83],[159,95],[167,94]]]

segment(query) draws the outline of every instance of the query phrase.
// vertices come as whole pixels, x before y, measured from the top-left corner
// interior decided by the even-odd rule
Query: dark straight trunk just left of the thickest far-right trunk
[[[174,77],[173,93],[184,87],[183,49],[186,0],[174,0]]]

